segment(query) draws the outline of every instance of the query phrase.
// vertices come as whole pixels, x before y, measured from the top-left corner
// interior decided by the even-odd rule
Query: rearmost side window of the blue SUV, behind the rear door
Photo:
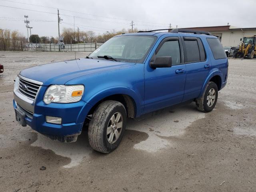
[[[227,58],[227,55],[223,49],[223,46],[218,39],[215,39],[215,38],[206,38],[206,39],[207,39],[208,44],[212,50],[214,59]]]

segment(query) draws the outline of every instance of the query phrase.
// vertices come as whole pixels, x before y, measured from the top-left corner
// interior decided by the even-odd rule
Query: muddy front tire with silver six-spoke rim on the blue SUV
[[[120,128],[121,124],[122,127]],[[102,102],[92,114],[89,123],[88,139],[90,146],[102,153],[115,150],[124,136],[125,128],[126,109],[124,105],[112,100]],[[107,131],[110,133],[107,134]]]

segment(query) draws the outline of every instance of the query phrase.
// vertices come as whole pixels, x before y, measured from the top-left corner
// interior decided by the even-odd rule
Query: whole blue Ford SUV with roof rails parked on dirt
[[[127,118],[181,102],[210,112],[228,78],[228,59],[209,32],[174,29],[115,36],[86,58],[22,70],[16,120],[61,142],[88,125],[94,150],[120,144]]]

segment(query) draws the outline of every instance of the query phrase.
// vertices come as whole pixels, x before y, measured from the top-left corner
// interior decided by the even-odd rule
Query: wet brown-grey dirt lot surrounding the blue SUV
[[[86,130],[65,144],[14,117],[20,70],[72,58],[72,52],[0,52],[0,191],[256,191],[255,59],[229,60],[228,84],[212,112],[192,103],[129,120],[117,150],[100,154]]]

